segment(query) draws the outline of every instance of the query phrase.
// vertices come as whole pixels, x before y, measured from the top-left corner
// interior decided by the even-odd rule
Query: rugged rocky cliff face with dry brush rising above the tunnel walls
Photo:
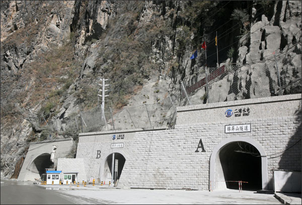
[[[158,102],[173,114],[169,96],[188,105],[180,81],[189,87],[205,64],[215,69],[215,31],[226,72],[209,82],[208,97],[205,86],[192,92],[191,104],[301,91],[298,1],[2,1],[1,175],[18,175],[31,141],[51,135],[76,145],[80,111],[99,106],[99,78],[110,84],[118,129],[133,128],[130,108],[140,118],[138,106]]]

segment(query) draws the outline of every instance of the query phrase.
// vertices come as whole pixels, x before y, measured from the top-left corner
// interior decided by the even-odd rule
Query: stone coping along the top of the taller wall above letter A
[[[263,104],[269,102],[289,101],[289,100],[298,100],[298,99],[301,100],[301,94],[288,94],[288,95],[273,96],[273,97],[259,97],[259,98],[251,98],[251,99],[240,99],[240,100],[233,100],[233,101],[213,102],[210,104],[177,107],[176,111],[180,113],[180,112],[187,112],[187,111],[198,111],[198,110],[215,109],[215,108],[223,108],[223,107],[230,107],[230,106]]]

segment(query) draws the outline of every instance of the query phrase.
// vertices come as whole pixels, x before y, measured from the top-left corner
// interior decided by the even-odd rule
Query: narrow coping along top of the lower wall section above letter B
[[[89,136],[89,135],[132,133],[132,132],[145,132],[145,131],[156,131],[156,130],[167,130],[167,129],[168,127],[147,127],[147,128],[124,129],[124,130],[109,130],[109,131],[101,131],[101,132],[79,133],[79,137]]]

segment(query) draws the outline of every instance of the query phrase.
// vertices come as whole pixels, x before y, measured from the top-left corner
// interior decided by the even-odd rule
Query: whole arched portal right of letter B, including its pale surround
[[[114,155],[114,161],[112,166],[113,155]],[[109,183],[109,181],[112,182],[112,174],[113,174],[114,181],[119,180],[127,158],[125,153],[116,151],[116,152],[107,153],[105,156],[106,157],[104,158],[100,166],[99,178],[101,179],[101,181],[104,182],[106,181],[106,183]]]

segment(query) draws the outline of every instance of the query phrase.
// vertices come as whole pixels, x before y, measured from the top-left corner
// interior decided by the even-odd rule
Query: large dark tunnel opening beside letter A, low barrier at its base
[[[220,149],[219,160],[225,181],[246,181],[243,190],[262,189],[261,157],[247,142],[231,142]],[[238,182],[225,182],[226,188],[238,189]]]

